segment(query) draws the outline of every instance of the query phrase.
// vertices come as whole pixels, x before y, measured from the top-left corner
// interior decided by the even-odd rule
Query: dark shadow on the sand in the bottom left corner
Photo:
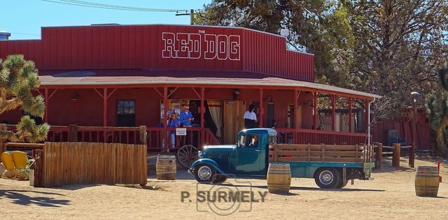
[[[18,205],[38,205],[42,207],[62,207],[62,205],[69,205],[69,200],[55,199],[46,196],[27,196],[24,193],[41,193],[44,195],[64,196],[59,193],[27,191],[27,190],[0,190],[0,200],[8,199],[11,203]]]

